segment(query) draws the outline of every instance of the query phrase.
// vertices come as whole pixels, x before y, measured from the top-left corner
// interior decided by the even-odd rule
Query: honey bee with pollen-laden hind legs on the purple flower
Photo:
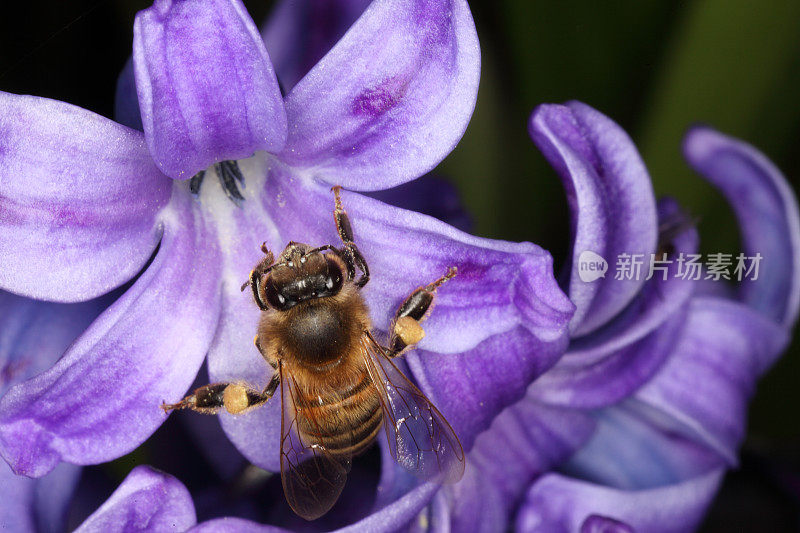
[[[361,289],[367,262],[334,187],[334,222],[343,246],[290,242],[274,260],[266,245],[249,286],[261,309],[255,345],[274,370],[263,390],[244,383],[200,387],[173,409],[240,414],[281,389],[281,481],[289,505],[306,520],[325,514],[344,488],[351,459],[384,429],[392,457],[425,480],[455,483],[464,451],[439,410],[397,368],[393,358],[424,336],[421,322],[451,267],[400,305],[387,345],[372,332]]]

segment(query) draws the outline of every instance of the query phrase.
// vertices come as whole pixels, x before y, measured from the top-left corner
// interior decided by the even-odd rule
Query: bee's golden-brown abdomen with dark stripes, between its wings
[[[303,440],[334,456],[364,451],[383,420],[380,395],[366,369],[339,390],[304,395],[302,403],[297,422]]]

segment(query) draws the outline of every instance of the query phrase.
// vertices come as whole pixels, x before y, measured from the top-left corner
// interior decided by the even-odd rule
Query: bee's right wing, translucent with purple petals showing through
[[[464,450],[453,428],[367,332],[367,369],[381,396],[389,450],[401,466],[425,480],[455,483],[464,475]]]

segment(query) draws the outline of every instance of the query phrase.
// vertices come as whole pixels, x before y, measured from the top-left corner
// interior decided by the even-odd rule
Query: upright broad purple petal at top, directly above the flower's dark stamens
[[[239,0],[156,0],[136,16],[133,64],[147,144],[168,176],[283,147],[278,82]]]

